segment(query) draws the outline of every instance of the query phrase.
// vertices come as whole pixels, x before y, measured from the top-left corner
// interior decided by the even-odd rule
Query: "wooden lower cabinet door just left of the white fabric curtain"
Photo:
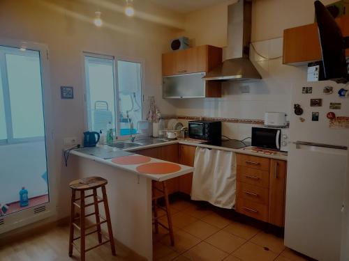
[[[179,164],[186,166],[194,166],[196,146],[191,145],[179,145]],[[179,191],[191,194],[191,184],[193,182],[193,173],[188,173],[179,177]]]

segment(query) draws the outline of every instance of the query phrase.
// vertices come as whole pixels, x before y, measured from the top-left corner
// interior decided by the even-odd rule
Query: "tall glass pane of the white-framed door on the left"
[[[0,46],[0,216],[50,202],[40,61]]]

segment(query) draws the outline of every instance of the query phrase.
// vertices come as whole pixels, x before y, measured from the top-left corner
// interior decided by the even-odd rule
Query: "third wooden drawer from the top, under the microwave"
[[[269,189],[237,182],[237,197],[251,200],[255,203],[268,205],[269,203]]]

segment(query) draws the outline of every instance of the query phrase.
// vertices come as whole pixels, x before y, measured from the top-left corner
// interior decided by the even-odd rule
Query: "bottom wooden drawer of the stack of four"
[[[237,197],[235,210],[246,216],[251,216],[254,219],[268,221],[268,206],[260,203],[255,203],[251,200]]]

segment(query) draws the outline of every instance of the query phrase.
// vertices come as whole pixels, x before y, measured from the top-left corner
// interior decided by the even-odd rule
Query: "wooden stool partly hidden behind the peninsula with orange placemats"
[[[157,184],[160,184],[162,188],[158,188],[156,186]],[[166,182],[165,181],[156,182],[156,181],[152,180],[151,181],[151,191],[152,191],[151,199],[153,201],[153,208],[154,208],[153,224],[155,226],[155,232],[156,232],[156,234],[158,234],[158,225],[167,229],[170,232],[171,246],[174,246],[172,216],[171,216],[171,212],[170,212],[170,203],[168,201],[168,187],[166,186]],[[159,198],[165,198],[165,207],[158,205]],[[159,219],[158,208],[163,209],[166,212],[166,215],[168,216],[168,226],[165,226],[163,223],[161,223],[158,220]]]

